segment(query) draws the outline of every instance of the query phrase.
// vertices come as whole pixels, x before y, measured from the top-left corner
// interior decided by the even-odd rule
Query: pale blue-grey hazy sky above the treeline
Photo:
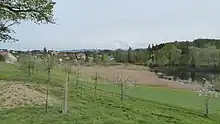
[[[220,0],[54,0],[56,25],[23,22],[8,49],[144,48],[220,38]]]

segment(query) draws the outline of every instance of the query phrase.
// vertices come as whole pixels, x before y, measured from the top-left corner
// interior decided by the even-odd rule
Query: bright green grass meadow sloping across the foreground
[[[61,99],[65,74],[55,68],[51,78],[50,92]],[[42,70],[29,78],[16,66],[0,63],[0,80],[36,86],[46,85],[46,79]],[[210,115],[204,117],[204,98],[190,91],[138,86],[126,89],[126,99],[121,102],[119,87],[112,84],[99,82],[96,97],[91,81],[80,81],[81,85],[77,92],[72,75],[67,114],[60,113],[60,103],[50,106],[48,113],[45,106],[1,108],[0,124],[220,124],[220,98],[210,100]]]

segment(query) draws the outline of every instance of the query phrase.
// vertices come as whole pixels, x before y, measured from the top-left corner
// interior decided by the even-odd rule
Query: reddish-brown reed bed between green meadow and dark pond
[[[137,84],[188,90],[193,90],[194,88],[200,87],[196,84],[184,84],[177,81],[160,79],[154,73],[150,72],[147,67],[143,66],[90,66],[83,67],[80,72],[83,75],[94,76],[96,68],[98,68],[98,74],[100,77],[110,81],[115,80],[114,73],[116,73],[116,75],[122,73],[123,75],[128,76],[130,79],[135,80]]]

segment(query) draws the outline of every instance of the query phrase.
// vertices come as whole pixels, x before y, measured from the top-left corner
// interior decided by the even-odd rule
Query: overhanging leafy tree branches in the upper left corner
[[[11,28],[21,21],[36,24],[54,23],[52,0],[1,0],[0,1],[0,42],[14,42]]]

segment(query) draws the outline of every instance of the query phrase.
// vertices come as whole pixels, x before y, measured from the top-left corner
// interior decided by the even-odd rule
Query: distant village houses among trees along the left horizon
[[[99,52],[99,51],[98,51]],[[97,53],[98,53],[97,52]],[[84,51],[84,52],[64,52],[64,51],[56,51],[56,50],[48,50],[48,54],[56,57],[57,61],[78,61],[80,64],[92,63],[94,61],[94,51]],[[27,51],[19,51],[19,50],[8,50],[8,49],[0,49],[0,61],[5,61],[6,63],[15,63],[19,60],[20,55],[34,55],[40,58],[43,58],[44,50],[27,50]],[[1,57],[2,56],[2,57]],[[103,55],[97,54],[97,57],[100,59]],[[109,55],[107,57],[108,61],[113,61],[114,56]]]

